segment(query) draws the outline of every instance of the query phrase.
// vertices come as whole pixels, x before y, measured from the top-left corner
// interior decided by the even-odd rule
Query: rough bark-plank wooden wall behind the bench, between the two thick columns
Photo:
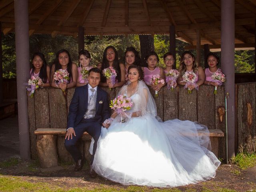
[[[120,88],[109,90],[109,99],[113,99]],[[74,94],[75,88],[66,90],[66,97],[60,89],[39,88],[34,97],[28,96],[28,118],[30,129],[30,146],[32,158],[36,158],[36,135],[34,131],[38,128],[66,128],[68,108]],[[154,96],[154,90],[150,88]],[[218,88],[218,93],[213,94],[213,86],[200,86],[199,90],[188,90],[183,86],[177,86],[174,90],[168,90],[164,86],[155,98],[158,116],[163,121],[178,118],[180,120],[197,121],[208,126],[209,129],[220,129],[225,133],[225,102],[224,87]],[[58,156],[64,160],[70,159],[63,148],[64,137],[56,139]],[[82,149],[81,149],[82,150]],[[219,139],[219,157],[225,158],[225,136]]]

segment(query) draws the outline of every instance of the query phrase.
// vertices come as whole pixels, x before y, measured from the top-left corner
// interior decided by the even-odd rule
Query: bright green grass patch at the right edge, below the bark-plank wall
[[[256,154],[237,154],[232,159],[232,163],[237,164],[242,170],[256,165]]]

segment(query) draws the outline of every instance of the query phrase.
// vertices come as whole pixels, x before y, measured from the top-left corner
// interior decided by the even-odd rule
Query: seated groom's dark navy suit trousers
[[[70,152],[71,156],[77,162],[79,159],[82,159],[82,154],[76,147],[76,142],[82,137],[83,133],[86,131],[90,136],[94,139],[93,145],[93,153],[90,160],[90,164],[92,164],[94,160],[94,155],[97,148],[97,142],[101,133],[101,124],[99,122],[95,122],[94,118],[91,119],[82,119],[76,127],[74,127],[74,131],[76,136],[72,136],[73,138],[65,139],[65,147]]]

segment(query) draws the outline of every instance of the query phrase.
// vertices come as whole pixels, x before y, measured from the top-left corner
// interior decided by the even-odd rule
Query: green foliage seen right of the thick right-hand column
[[[254,72],[254,50],[244,50],[235,52],[235,72],[253,73]]]

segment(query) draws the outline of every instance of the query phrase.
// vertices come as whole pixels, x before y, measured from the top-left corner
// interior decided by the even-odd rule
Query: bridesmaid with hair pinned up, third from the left
[[[80,50],[78,54],[78,60],[79,60],[79,67],[77,68],[78,80],[77,80],[76,86],[80,87],[88,84],[88,80],[84,80],[84,78],[82,77],[81,69],[90,66],[91,54],[88,52],[88,50]]]

